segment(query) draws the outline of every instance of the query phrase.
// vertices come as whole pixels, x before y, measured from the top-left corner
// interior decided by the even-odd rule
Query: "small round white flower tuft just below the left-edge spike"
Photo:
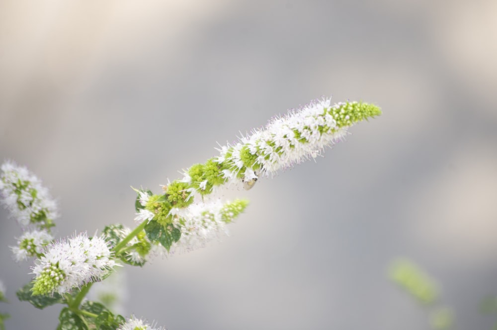
[[[17,246],[10,247],[14,254],[14,260],[19,262],[27,260],[28,257],[38,256],[45,246],[53,241],[53,236],[45,230],[33,230],[26,232],[17,239]]]

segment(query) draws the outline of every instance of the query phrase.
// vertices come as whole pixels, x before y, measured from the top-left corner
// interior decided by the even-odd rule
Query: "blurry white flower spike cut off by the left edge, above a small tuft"
[[[58,217],[57,203],[48,189],[26,167],[13,162],[1,165],[0,197],[10,216],[22,228],[33,224],[40,229],[50,229]]]

